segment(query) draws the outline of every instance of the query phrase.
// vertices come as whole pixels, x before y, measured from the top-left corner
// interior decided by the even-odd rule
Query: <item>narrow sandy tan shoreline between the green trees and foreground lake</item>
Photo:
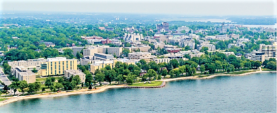
[[[190,80],[190,79],[192,79],[192,80],[196,80],[196,79],[212,79],[212,78],[215,78],[217,76],[247,76],[249,74],[262,73],[262,72],[276,73],[276,71],[254,71],[254,72],[247,72],[247,73],[241,73],[241,74],[213,74],[211,76],[203,77],[203,78],[197,78],[198,76],[192,76],[192,77],[164,79],[164,80],[159,80],[159,81],[163,81],[164,84],[162,83],[162,85],[164,87],[165,86],[165,82],[168,82],[168,81]],[[97,89],[92,89],[92,90],[81,89],[81,90],[75,90],[73,92],[62,91],[60,93],[44,93],[44,94],[27,95],[27,96],[2,97],[2,98],[8,98],[8,99],[4,100],[4,101],[0,101],[0,106],[8,104],[8,103],[11,103],[11,102],[15,102],[15,101],[18,101],[18,100],[22,100],[22,99],[44,98],[44,97],[59,97],[59,96],[76,95],[76,94],[91,94],[91,93],[103,92],[106,89],[124,88],[124,87],[128,87],[128,86],[127,85],[113,85],[113,86],[102,86],[102,87],[99,87]]]

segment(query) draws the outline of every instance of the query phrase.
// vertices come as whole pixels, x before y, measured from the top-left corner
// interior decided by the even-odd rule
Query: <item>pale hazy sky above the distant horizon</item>
[[[276,0],[0,0],[0,11],[275,16]]]

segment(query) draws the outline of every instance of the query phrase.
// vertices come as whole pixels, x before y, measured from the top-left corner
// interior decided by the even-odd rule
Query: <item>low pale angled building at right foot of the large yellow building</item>
[[[74,69],[70,69],[70,70],[64,70],[64,77],[66,79],[69,79],[71,76],[79,76],[81,79],[81,83],[84,83],[86,80],[86,74],[83,73],[81,70],[74,70]]]

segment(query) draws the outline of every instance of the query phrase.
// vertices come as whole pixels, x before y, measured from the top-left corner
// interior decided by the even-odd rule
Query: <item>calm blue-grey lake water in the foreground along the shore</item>
[[[276,112],[276,73],[27,99],[0,106],[0,112]]]

